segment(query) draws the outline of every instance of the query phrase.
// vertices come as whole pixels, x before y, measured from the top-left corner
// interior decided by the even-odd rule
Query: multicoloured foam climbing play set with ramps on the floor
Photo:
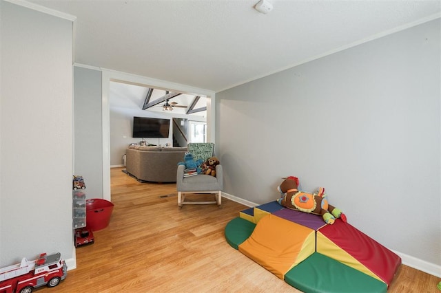
[[[347,223],[338,209],[327,221],[325,213],[296,206],[296,196],[300,202],[319,196],[323,208],[326,197],[307,198],[296,188],[280,193],[294,206],[279,200],[241,211],[225,227],[230,246],[303,292],[387,292],[401,264],[397,254]]]

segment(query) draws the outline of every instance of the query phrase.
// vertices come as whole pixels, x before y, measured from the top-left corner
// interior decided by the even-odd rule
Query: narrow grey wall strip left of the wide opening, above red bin
[[[74,67],[74,173],[87,198],[103,198],[101,71]]]

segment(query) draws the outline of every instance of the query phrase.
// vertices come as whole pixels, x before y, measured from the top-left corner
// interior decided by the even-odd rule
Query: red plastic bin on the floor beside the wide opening
[[[86,226],[92,231],[98,231],[109,226],[113,206],[112,202],[105,199],[86,199]]]

